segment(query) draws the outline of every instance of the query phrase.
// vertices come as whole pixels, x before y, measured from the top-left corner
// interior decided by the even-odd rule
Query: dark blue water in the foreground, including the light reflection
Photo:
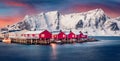
[[[94,38],[100,41],[51,46],[0,42],[0,61],[120,61],[120,37]]]

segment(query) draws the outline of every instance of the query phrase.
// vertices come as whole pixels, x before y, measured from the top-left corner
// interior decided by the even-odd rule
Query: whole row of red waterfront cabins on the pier
[[[29,37],[32,35],[33,37],[36,36],[36,34],[22,34],[22,36]],[[87,38],[87,35],[83,35],[82,32],[80,34],[76,35],[72,31],[69,32],[69,34],[65,34],[64,32],[60,31],[58,34],[52,34],[51,32],[45,30],[41,32],[40,34],[37,34],[39,39],[54,39],[54,40],[62,40],[62,39],[81,39],[81,38]]]

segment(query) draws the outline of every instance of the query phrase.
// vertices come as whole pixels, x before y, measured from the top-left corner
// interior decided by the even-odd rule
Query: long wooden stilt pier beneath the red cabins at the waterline
[[[63,39],[63,40],[42,40],[42,39],[13,39],[11,38],[11,43],[18,44],[29,44],[29,45],[50,45],[51,43],[56,44],[73,44],[73,43],[84,43],[84,42],[94,42],[98,41],[96,39],[87,39],[87,40],[77,40],[77,39]]]

